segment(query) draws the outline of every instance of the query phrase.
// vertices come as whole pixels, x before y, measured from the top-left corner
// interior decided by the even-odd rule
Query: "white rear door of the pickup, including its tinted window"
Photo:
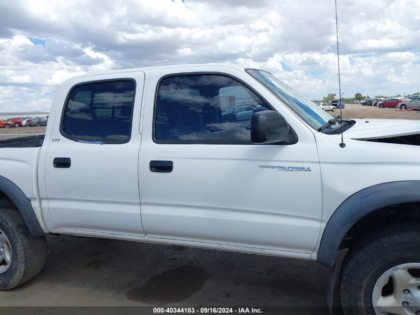
[[[143,85],[144,73],[136,73],[71,89],[61,119],[53,121],[44,159],[55,225],[145,235],[137,178]]]

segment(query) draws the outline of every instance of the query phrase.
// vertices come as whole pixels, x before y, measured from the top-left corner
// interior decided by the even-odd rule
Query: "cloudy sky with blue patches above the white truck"
[[[420,0],[337,0],[341,91],[420,90]],[[229,62],[338,95],[334,0],[0,0],[0,111],[88,72]]]

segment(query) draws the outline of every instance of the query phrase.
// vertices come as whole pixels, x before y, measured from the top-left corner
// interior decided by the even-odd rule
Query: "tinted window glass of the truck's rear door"
[[[126,143],[131,136],[134,80],[76,86],[68,98],[62,133],[74,141]]]

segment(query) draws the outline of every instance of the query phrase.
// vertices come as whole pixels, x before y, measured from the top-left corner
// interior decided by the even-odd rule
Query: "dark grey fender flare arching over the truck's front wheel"
[[[366,214],[393,205],[420,202],[420,181],[374,185],[348,197],[334,211],[321,238],[317,261],[333,267],[344,235]]]

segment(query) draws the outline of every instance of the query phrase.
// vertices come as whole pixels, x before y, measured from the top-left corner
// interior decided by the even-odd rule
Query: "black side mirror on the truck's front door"
[[[252,143],[290,142],[289,124],[277,111],[263,110],[254,112],[251,119]]]

